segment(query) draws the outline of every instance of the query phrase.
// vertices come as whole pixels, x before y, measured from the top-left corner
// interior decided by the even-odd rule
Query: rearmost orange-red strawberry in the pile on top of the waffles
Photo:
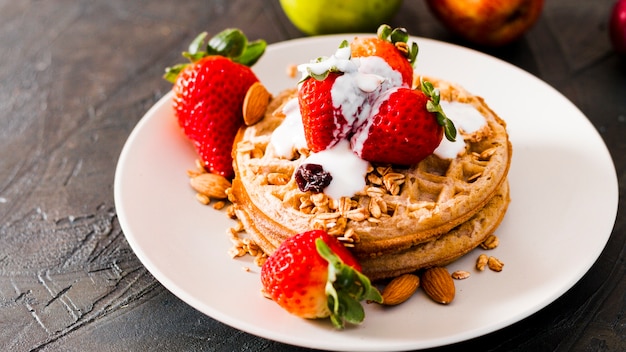
[[[407,44],[409,35],[403,28],[391,29],[388,25],[378,28],[377,37],[356,38],[350,43],[353,58],[378,56],[402,76],[402,83],[413,84],[413,64],[417,57],[416,43]],[[371,72],[375,73],[375,72]]]

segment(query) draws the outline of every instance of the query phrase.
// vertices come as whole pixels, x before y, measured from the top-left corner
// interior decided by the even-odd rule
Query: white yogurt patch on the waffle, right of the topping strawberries
[[[474,133],[483,128],[487,124],[487,120],[472,104],[441,100],[439,105],[441,105],[446,116],[454,123],[457,135],[454,142],[444,137],[433,154],[441,159],[454,159],[465,150],[465,140],[463,140],[460,132]]]

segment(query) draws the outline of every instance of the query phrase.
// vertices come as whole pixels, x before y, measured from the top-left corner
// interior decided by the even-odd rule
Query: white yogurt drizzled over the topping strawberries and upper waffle
[[[378,109],[380,92],[403,85],[400,73],[377,56],[350,58],[350,47],[341,47],[332,56],[316,62],[302,64],[298,70],[303,77],[310,74],[322,75],[331,68],[343,74],[335,80],[331,89],[333,107],[341,109],[349,126],[368,128],[367,117]],[[446,115],[465,133],[473,133],[486,124],[484,116],[471,104],[440,102]],[[293,150],[306,148],[304,126],[298,100],[287,102],[283,108],[285,120],[272,134],[270,144],[278,156],[292,158]],[[365,124],[365,125],[364,125]],[[335,126],[335,130],[337,130]],[[345,131],[344,131],[345,132]],[[339,133],[339,132],[338,132]],[[358,148],[356,141],[353,148]],[[450,142],[442,138],[434,154],[442,159],[456,158],[465,149],[463,138]],[[303,163],[322,165],[332,175],[332,181],[324,189],[329,197],[339,199],[351,197],[365,187],[365,176],[369,163],[354,154],[347,139],[318,153],[311,153]]]

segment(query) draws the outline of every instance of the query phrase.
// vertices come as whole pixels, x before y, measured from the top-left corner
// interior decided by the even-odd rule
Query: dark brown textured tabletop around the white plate
[[[626,60],[608,41],[612,3],[549,0],[522,40],[476,49],[578,106],[608,145],[623,193]],[[421,1],[405,1],[391,24],[468,45]],[[180,301],[135,257],[115,213],[117,158],[168,91],[163,68],[195,34],[229,26],[270,43],[302,36],[278,1],[0,1],[1,350],[306,350],[240,332]],[[436,350],[626,350],[623,212],[622,198],[604,252],[561,298],[510,327]]]

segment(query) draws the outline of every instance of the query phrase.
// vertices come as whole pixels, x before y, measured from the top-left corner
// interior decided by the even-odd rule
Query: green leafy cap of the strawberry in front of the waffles
[[[326,295],[330,320],[341,329],[345,322],[359,324],[365,319],[362,300],[382,302],[382,296],[372,286],[367,276],[346,265],[328,245],[318,238],[315,240],[318,253],[328,261],[328,281]]]

